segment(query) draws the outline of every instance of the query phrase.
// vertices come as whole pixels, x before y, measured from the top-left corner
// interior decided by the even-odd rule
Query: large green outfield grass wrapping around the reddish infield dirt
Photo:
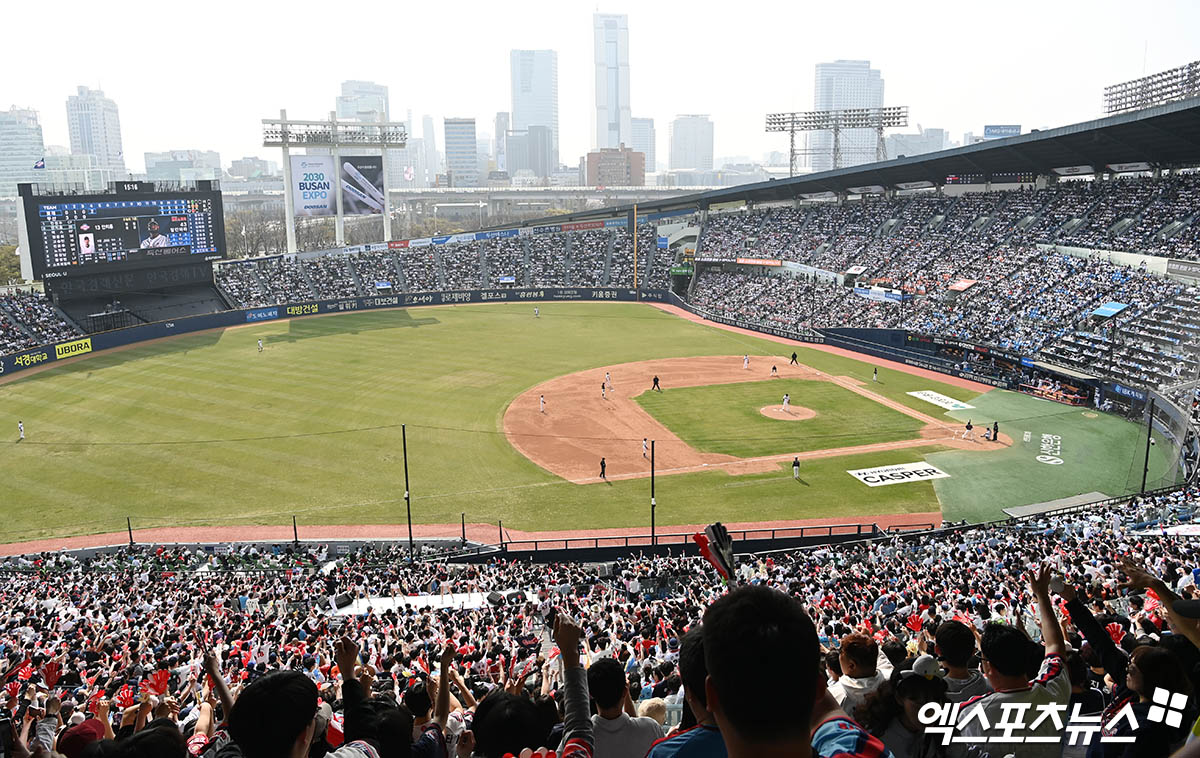
[[[542,303],[534,320],[530,306],[505,303],[264,323],[102,353],[0,385],[0,429],[11,434],[0,444],[4,536],[118,531],[126,516],[136,528],[286,524],[292,515],[301,524],[402,523],[401,423],[418,523],[457,523],[464,512],[520,529],[642,525],[647,481],[577,486],[548,474],[503,435],[509,403],[548,378],[611,363],[791,350],[648,306]],[[869,362],[796,350],[820,371],[871,379]],[[931,415],[940,409],[905,392],[976,395],[890,369],[871,389]],[[25,443],[16,444],[17,420]],[[936,510],[928,482],[868,489],[845,473],[936,450],[814,461],[805,485],[786,468],[662,476],[659,521]]]

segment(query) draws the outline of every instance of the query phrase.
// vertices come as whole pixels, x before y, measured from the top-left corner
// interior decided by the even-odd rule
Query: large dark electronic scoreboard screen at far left
[[[220,191],[22,199],[34,278],[224,258]]]

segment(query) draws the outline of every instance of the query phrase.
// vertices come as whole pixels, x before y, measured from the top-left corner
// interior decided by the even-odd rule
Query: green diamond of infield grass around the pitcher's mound
[[[804,421],[768,419],[764,405],[816,411]],[[772,379],[643,392],[637,402],[696,450],[739,458],[850,447],[914,439],[923,426],[912,416],[881,405],[832,381]]]

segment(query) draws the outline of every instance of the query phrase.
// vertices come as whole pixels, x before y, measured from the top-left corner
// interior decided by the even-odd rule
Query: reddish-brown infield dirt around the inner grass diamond
[[[653,391],[650,387],[654,377],[659,378],[662,389],[772,381],[772,366],[778,367],[780,378],[832,381],[917,419],[925,426],[914,439],[908,440],[799,453],[780,451],[778,455],[758,458],[737,458],[696,450],[634,401],[642,392]],[[606,372],[612,377],[612,389],[601,397],[600,385]],[[540,396],[546,398],[545,413],[539,409]],[[780,411],[780,415],[770,413],[773,409]],[[779,405],[761,409],[763,415],[782,420],[781,411]],[[800,413],[808,413],[806,417],[816,415],[811,409],[798,405],[792,405],[791,413],[796,414],[791,419],[794,421],[803,419],[798,415]],[[959,428],[955,422],[941,421],[877,395],[856,379],[833,377],[809,366],[787,365],[786,360],[766,355],[750,356],[750,368],[742,367],[740,355],[672,357],[598,366],[530,387],[518,395],[504,411],[504,434],[509,443],[539,467],[577,485],[600,481],[601,457],[607,464],[606,474],[610,480],[649,476],[650,463],[642,456],[643,438],[656,443],[654,465],[659,475],[702,471],[708,468],[720,468],[728,474],[756,474],[776,470],[781,461],[791,461],[793,457],[805,461],[920,447],[930,443],[961,450],[988,450],[1012,444],[1006,434],[1001,434],[998,445],[979,439],[958,439],[955,434]]]

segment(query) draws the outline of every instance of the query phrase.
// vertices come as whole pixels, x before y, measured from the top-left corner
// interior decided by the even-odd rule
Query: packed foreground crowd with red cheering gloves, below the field
[[[1014,723],[1040,738],[1020,756],[1166,756],[1198,715],[1200,553],[1156,531],[1198,498],[743,555],[728,589],[691,558],[11,558],[2,715],[13,754],[67,758],[907,758],[982,754]],[[1156,718],[1159,688],[1180,718]],[[1091,748],[1063,729],[1080,716],[1100,716]]]

